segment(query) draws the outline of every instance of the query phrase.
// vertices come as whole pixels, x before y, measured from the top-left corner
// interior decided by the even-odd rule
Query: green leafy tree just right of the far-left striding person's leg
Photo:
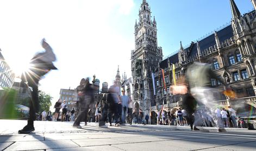
[[[52,105],[52,100],[53,97],[50,95],[46,94],[43,91],[39,90],[39,112],[41,113],[42,111],[49,111],[50,106]]]

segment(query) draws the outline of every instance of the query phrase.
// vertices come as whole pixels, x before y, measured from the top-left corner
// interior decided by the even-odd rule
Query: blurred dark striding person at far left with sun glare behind
[[[43,75],[47,74],[49,71],[57,70],[57,68],[53,65],[53,61],[55,61],[56,58],[51,46],[49,46],[45,39],[42,39],[41,45],[45,49],[45,52],[36,54],[30,61],[30,65],[32,66],[28,71],[22,73],[21,85],[24,87],[24,89],[32,87],[33,91],[32,99],[30,99],[28,124],[23,129],[19,130],[18,133],[26,134],[35,130],[34,121],[36,119],[36,112],[39,111],[39,81]]]

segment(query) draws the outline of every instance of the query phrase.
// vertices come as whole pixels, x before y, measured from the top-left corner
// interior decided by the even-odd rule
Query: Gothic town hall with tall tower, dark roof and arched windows
[[[256,1],[251,2],[255,9]],[[241,15],[234,0],[230,0],[230,7],[231,24],[199,41],[191,42],[187,48],[183,48],[180,42],[179,51],[162,60],[161,48],[157,47],[155,20],[151,22],[148,3],[142,2],[139,24],[135,23],[135,51],[132,51],[133,99],[139,102],[140,106],[147,106],[149,102],[145,100],[151,100],[152,115],[162,108],[163,103],[165,110],[182,106],[182,96],[173,96],[169,92],[173,84],[172,65],[176,68],[177,81],[182,81],[188,66],[198,61],[210,64],[214,72],[231,86],[238,96],[236,99],[229,99],[222,93],[216,93],[216,104],[232,105],[238,114],[244,116],[249,115],[248,110],[253,108],[252,113],[256,114],[255,10]],[[161,69],[164,70],[165,79]],[[149,74],[151,71],[154,76]],[[152,77],[155,81],[155,95]],[[223,91],[220,81],[211,79],[211,86],[220,92]],[[142,110],[148,112],[146,108]]]

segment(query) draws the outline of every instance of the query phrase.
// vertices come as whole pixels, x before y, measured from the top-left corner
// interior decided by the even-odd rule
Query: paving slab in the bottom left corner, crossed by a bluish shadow
[[[52,149],[52,148],[70,148],[79,147],[76,143],[70,140],[65,141],[27,141],[27,142],[15,142],[8,150],[36,150],[36,149]]]

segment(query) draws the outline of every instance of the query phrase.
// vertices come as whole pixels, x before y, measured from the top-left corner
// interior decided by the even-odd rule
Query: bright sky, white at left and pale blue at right
[[[2,0],[0,48],[16,71],[41,51],[43,37],[57,55],[40,89],[59,98],[60,89],[74,89],[80,79],[92,77],[111,85],[117,66],[130,76],[134,23],[142,0]],[[250,0],[236,0],[244,14]],[[229,0],[148,0],[158,28],[164,56],[189,45],[231,20]]]

